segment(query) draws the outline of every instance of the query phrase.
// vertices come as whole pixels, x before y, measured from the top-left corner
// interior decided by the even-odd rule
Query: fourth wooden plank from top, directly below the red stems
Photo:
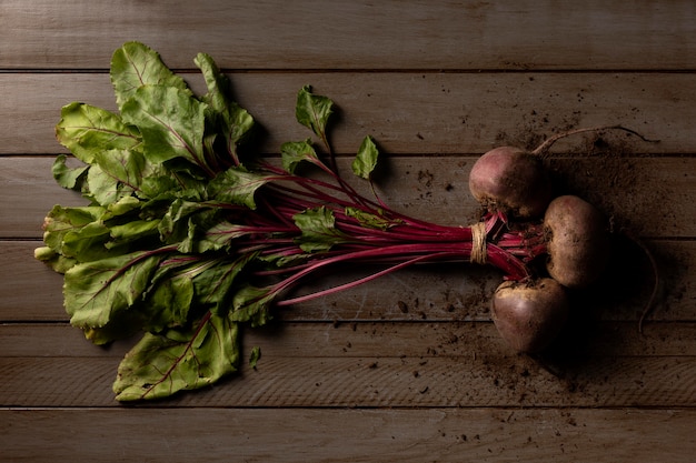
[[[0,241],[0,321],[61,321],[62,275],[33,259],[39,241]],[[696,313],[696,243],[655,241],[649,243],[659,262],[662,289],[648,320],[694,321]],[[636,321],[653,288],[653,274],[642,254],[624,251],[591,290],[575,294],[575,304],[587,316],[599,320]],[[638,253],[636,249],[630,252]],[[326,289],[358,278],[327,274],[307,282],[302,292]],[[284,309],[277,314],[286,321],[366,321],[366,320],[489,320],[490,294],[500,283],[494,270],[451,264],[405,269],[365,283],[354,290],[320,298]],[[589,311],[587,308],[591,308]]]

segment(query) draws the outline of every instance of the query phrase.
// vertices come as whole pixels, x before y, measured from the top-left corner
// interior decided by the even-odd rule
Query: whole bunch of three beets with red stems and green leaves
[[[480,220],[439,225],[379,199],[370,137],[351,170],[374,194],[359,194],[339,175],[327,134],[331,100],[304,87],[296,119],[315,139],[284,143],[279,159],[262,157],[248,148],[253,119],[231,99],[227,76],[207,54],[195,62],[203,95],[158,53],[128,42],[111,61],[119,111],[74,102],[57,125],[58,140],[81,164],[60,155],[53,175],[89,204],[56,205],[43,224],[46,245],[34,254],[64,274],[70,322],[92,342],[145,333],[119,366],[118,400],[209,385],[238,369],[241,324],[262,325],[274,306],[421,263],[499,269],[493,320],[515,350],[538,352],[567,320],[567,290],[589,285],[606,264],[605,219],[580,198],[554,198],[539,155],[570,132],[531,152],[487,152],[469,178]],[[349,263],[365,274],[292,292]]]

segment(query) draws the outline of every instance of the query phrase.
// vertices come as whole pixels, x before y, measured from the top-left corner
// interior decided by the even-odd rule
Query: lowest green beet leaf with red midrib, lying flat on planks
[[[237,323],[216,315],[187,330],[146,333],[119,365],[116,399],[159,399],[210,385],[237,371],[238,344]]]

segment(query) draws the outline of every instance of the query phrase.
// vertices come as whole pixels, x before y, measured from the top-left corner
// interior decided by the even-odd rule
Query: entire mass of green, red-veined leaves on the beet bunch
[[[76,102],[62,108],[56,127],[58,141],[84,165],[59,155],[53,178],[90,204],[53,208],[43,224],[46,245],[34,255],[64,273],[66,311],[89,340],[103,344],[145,331],[119,366],[113,391],[120,401],[169,396],[236,371],[238,324],[265,324],[276,299],[304,276],[294,271],[350,242],[335,213],[366,229],[390,225],[365,203],[321,205],[340,189],[345,201],[356,199],[342,182],[331,189],[276,168],[247,169],[238,145],[253,118],[233,101],[229,79],[209,56],[199,53],[195,63],[207,85],[202,97],[157,52],[127,42],[111,60],[119,112]],[[297,121],[329,153],[332,111],[334,102],[308,85],[298,92]],[[311,139],[280,151],[288,173],[309,162],[340,180]],[[367,138],[354,172],[368,179],[376,162]],[[281,182],[296,183],[286,190]],[[287,204],[279,200],[286,191],[294,197]],[[280,282],[265,280],[278,272],[287,272]]]

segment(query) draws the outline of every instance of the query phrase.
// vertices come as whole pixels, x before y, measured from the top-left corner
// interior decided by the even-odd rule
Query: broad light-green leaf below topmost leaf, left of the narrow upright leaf
[[[140,129],[148,161],[182,158],[205,169],[206,108],[206,103],[180,89],[145,85],[123,103],[121,115]]]

